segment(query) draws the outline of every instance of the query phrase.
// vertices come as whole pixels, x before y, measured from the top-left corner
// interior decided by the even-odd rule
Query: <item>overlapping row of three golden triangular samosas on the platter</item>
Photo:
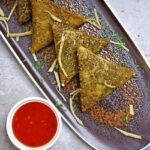
[[[79,73],[82,111],[93,107],[134,75],[131,69],[113,64],[96,55],[109,44],[109,40],[75,29],[87,22],[85,17],[50,0],[32,0],[31,4],[33,22],[31,51],[32,53],[39,51],[54,39],[61,84],[65,86]],[[24,21],[28,19],[29,17]],[[23,23],[21,19],[19,20]]]

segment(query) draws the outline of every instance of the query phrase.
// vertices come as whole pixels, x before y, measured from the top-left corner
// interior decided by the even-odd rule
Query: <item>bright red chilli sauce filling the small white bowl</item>
[[[29,102],[14,114],[12,129],[15,137],[24,145],[40,147],[55,136],[57,118],[47,105]]]

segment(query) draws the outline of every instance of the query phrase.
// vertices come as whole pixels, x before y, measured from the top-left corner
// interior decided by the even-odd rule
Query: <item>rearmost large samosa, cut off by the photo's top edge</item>
[[[32,0],[32,52],[48,46],[53,41],[52,25],[61,22],[77,28],[86,22],[83,16],[77,15],[50,0]]]

